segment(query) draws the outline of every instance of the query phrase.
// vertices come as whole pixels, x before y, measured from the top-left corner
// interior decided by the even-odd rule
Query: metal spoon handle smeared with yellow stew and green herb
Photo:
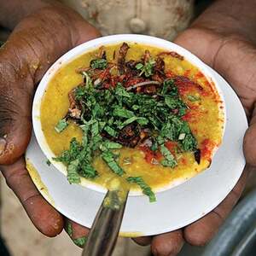
[[[108,190],[92,224],[82,256],[111,255],[119,235],[127,196],[128,191],[120,197],[119,190]]]

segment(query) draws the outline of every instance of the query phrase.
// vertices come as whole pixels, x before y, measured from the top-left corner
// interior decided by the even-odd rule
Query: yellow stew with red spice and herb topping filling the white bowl
[[[51,79],[41,124],[70,183],[113,179],[158,190],[205,170],[222,140],[224,113],[214,84],[176,52],[143,44],[106,45]]]

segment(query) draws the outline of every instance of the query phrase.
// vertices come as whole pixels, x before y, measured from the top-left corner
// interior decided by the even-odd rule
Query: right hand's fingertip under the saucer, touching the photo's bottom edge
[[[154,256],[175,256],[183,247],[182,230],[154,236],[151,251]]]

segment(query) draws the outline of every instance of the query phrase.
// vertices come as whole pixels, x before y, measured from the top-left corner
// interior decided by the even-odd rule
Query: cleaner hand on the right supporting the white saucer
[[[248,172],[256,167],[256,47],[239,34],[224,35],[196,26],[183,32],[175,43],[220,73],[239,96],[249,122],[243,143],[247,166],[236,187],[204,218],[182,230],[135,239],[143,245],[151,243],[154,255],[177,255],[184,241],[194,246],[207,244],[240,198]]]

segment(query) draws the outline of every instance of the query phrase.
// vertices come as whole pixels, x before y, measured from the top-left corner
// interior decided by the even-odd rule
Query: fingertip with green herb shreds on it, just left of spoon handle
[[[65,230],[67,231],[68,236],[70,236],[70,238],[77,246],[84,247],[90,229],[87,229],[84,226],[73,222],[69,218],[66,218],[65,222]]]

